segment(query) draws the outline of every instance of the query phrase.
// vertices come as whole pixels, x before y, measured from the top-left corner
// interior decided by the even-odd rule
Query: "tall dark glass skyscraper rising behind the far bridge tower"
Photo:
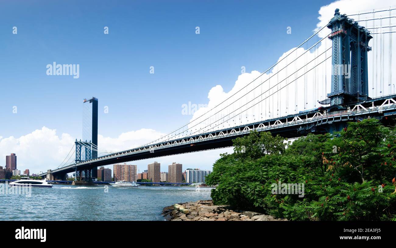
[[[95,97],[89,100],[84,99],[83,102],[82,140],[91,141],[96,147],[98,145],[98,99]],[[91,158],[97,158],[97,151],[92,150]],[[91,177],[93,179],[97,178],[97,168],[92,169]]]

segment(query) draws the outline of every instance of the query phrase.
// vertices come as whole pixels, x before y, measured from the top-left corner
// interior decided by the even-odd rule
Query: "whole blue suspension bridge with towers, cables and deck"
[[[350,15],[337,9],[327,25],[267,70],[251,73],[249,83],[236,85],[215,107],[168,135],[120,152],[76,140],[57,168],[39,176],[66,180],[75,172],[77,180],[84,173],[90,181],[91,169],[99,166],[230,147],[252,130],[297,138],[366,118],[394,125],[395,15],[392,7]]]

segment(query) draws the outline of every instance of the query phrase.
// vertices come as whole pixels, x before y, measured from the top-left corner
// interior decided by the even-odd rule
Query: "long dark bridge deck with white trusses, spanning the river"
[[[326,107],[321,110],[311,110],[247,125],[167,140],[149,146],[116,152],[77,164],[73,163],[55,169],[51,173],[64,174],[74,172],[76,169],[91,169],[114,163],[230,147],[232,146],[233,139],[248,135],[251,130],[257,130],[259,132],[269,131],[286,138],[297,138],[307,133],[328,133],[335,131],[337,125],[339,126],[342,123],[346,125],[348,121],[361,121],[367,117],[382,119],[382,117],[396,115],[396,101],[394,98],[396,98],[396,95],[383,96],[356,102],[349,110],[345,109],[327,113],[330,107]],[[39,176],[44,177],[46,174],[43,173]]]

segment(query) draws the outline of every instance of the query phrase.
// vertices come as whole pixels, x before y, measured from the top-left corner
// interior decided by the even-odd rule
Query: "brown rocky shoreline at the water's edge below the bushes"
[[[162,215],[167,221],[287,221],[252,211],[234,211],[229,205],[213,205],[212,200],[168,206]]]

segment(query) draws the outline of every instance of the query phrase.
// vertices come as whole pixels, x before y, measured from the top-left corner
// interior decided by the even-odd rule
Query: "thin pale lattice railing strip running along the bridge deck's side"
[[[316,112],[316,113],[320,113],[320,114],[315,113],[313,117],[307,117],[307,113],[301,113],[301,115],[298,115],[298,118],[294,117],[293,121],[287,121],[288,118],[284,117],[283,119],[286,119],[286,122],[282,122],[282,121],[280,121],[280,118],[278,118],[276,120],[268,120],[268,121],[266,120],[266,121],[260,121],[257,123],[251,123],[248,125],[239,126],[239,127],[244,127],[244,129],[242,129],[241,131],[237,131],[236,129],[238,129],[238,127],[235,127],[235,128],[218,130],[218,131],[212,132],[212,133],[205,133],[205,134],[201,134],[201,135],[185,137],[182,139],[179,138],[179,139],[175,139],[175,140],[168,140],[166,142],[160,142],[157,144],[153,144],[151,146],[139,147],[139,148],[134,148],[134,149],[130,149],[130,150],[125,150],[122,152],[116,152],[113,154],[101,156],[99,158],[82,161],[77,164],[73,163],[73,164],[67,165],[65,167],[55,169],[52,171],[52,173],[57,172],[57,171],[62,171],[64,169],[69,169],[71,167],[76,167],[79,165],[92,163],[94,161],[106,160],[107,158],[117,158],[117,157],[121,157],[121,156],[125,156],[125,155],[147,152],[150,150],[170,148],[170,147],[174,147],[174,146],[179,146],[181,144],[194,144],[196,142],[214,140],[217,138],[223,138],[223,137],[229,137],[229,136],[247,135],[252,130],[270,131],[270,130],[278,129],[278,128],[284,128],[284,127],[290,127],[290,126],[296,126],[296,125],[304,125],[304,124],[322,121],[321,123],[318,123],[320,125],[320,124],[324,124],[324,123],[337,121],[335,119],[335,117],[340,117],[340,120],[342,117],[348,117],[348,119],[350,119],[349,117],[355,116],[355,115],[378,113],[378,112],[395,110],[395,109],[396,109],[396,105],[394,103],[392,103],[389,106],[369,107],[367,109],[362,109],[359,111],[357,111],[357,110],[353,110],[353,111],[352,110],[341,110],[341,111],[331,112],[330,114],[326,114],[326,115],[323,115],[320,112]],[[293,116],[295,116],[295,115],[293,115]],[[301,118],[302,116],[305,116],[305,117]],[[331,118],[333,120],[329,121],[329,119],[331,119]],[[323,120],[325,120],[325,119],[326,119],[326,122],[323,122]],[[271,124],[272,121],[274,122],[273,124]],[[257,127],[254,127],[256,124],[257,124]],[[253,128],[249,128],[249,126],[252,126],[252,125],[253,125]],[[231,130],[230,133],[228,133],[229,130]],[[226,133],[224,133],[224,132],[226,132]],[[213,135],[213,133],[214,133],[214,135]],[[216,134],[216,133],[218,133],[218,134]],[[220,133],[222,133],[222,134],[220,134]],[[208,135],[208,137],[206,135]],[[41,176],[43,176],[43,175],[46,175],[46,173],[43,173]]]

